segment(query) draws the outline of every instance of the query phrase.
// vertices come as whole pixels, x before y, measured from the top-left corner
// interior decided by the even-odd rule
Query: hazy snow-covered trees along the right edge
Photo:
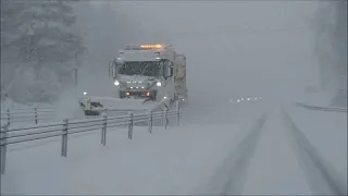
[[[347,105],[347,0],[321,2],[314,26],[321,87]]]

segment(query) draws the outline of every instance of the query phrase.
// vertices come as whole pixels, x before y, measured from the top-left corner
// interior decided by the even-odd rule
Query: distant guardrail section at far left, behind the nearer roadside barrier
[[[16,122],[40,123],[42,120],[55,117],[54,108],[25,107],[25,108],[7,108],[1,110],[1,124],[12,125]]]

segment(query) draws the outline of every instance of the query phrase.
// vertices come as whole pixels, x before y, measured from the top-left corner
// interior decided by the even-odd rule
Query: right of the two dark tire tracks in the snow
[[[320,156],[284,108],[283,115],[290,144],[313,194],[347,195],[344,180],[339,180],[334,167]]]

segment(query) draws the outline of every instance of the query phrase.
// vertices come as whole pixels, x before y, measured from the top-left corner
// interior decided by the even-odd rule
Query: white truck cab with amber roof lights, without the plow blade
[[[186,63],[178,68],[176,57],[177,53],[171,45],[124,47],[111,63],[119,97],[152,101],[177,98],[175,76],[176,72],[185,66],[186,89]]]

